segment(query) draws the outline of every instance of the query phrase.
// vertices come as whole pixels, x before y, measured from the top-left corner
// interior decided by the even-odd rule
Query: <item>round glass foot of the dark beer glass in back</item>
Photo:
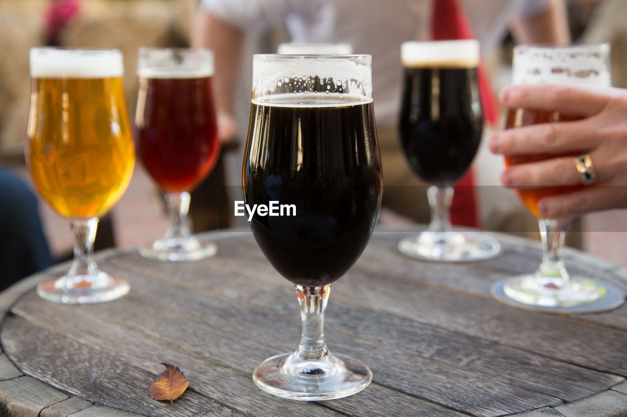
[[[492,236],[480,233],[422,232],[418,237],[401,240],[402,254],[440,262],[470,262],[496,257],[501,244]]]

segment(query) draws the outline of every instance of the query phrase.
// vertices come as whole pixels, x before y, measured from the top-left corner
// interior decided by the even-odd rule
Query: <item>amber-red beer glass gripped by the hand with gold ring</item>
[[[521,45],[514,49],[514,84],[565,84],[609,87],[609,45],[566,47]],[[507,115],[505,128],[538,123],[576,120],[557,111],[514,109]],[[537,162],[569,155],[514,155],[505,157],[507,166]],[[573,163],[574,165],[574,163]],[[573,167],[574,169],[574,167]],[[516,190],[520,200],[538,217],[544,254],[533,274],[513,277],[503,284],[505,296],[528,306],[563,309],[596,301],[606,292],[601,282],[586,277],[571,277],[559,250],[571,219],[547,219],[540,215],[537,203],[544,197],[569,193],[583,185],[568,185]],[[494,288],[494,287],[493,287]]]

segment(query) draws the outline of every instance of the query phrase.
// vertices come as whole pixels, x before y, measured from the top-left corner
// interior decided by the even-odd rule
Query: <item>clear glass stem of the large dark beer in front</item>
[[[300,361],[318,361],[329,354],[324,342],[324,309],[330,284],[322,287],[296,286],[303,332],[295,355]]]

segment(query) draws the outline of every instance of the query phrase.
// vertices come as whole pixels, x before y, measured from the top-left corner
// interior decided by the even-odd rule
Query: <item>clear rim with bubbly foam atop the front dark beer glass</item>
[[[370,55],[253,55],[253,102],[330,106],[372,101]]]

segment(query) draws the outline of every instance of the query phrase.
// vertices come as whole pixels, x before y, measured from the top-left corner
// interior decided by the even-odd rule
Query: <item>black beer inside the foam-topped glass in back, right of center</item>
[[[477,69],[455,63],[406,66],[403,88],[399,132],[409,165],[433,185],[457,182],[481,140]]]

